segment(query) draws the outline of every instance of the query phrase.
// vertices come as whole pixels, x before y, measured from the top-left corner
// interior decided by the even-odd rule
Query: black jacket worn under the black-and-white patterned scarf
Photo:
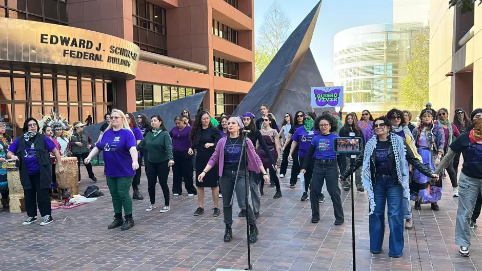
[[[417,169],[421,174],[424,174],[427,177],[431,177],[433,174],[431,170],[427,169],[427,167],[420,162],[414,155],[412,150],[410,150],[410,147],[407,145],[406,142],[405,144],[405,150],[407,151],[405,154],[405,158],[407,159],[408,163],[411,164],[415,169]],[[363,159],[364,159],[364,154],[362,153],[356,158],[355,161],[355,168],[353,171],[356,171],[363,165]],[[397,170],[396,170],[396,165],[395,165],[395,155],[393,154],[393,148],[390,145],[390,148],[388,149],[388,165],[390,167],[390,172],[392,173],[392,178],[394,180],[398,180],[398,175],[397,175]],[[370,173],[371,173],[371,179],[372,179],[372,184],[375,185],[375,173],[376,173],[376,166],[375,166],[375,151],[373,151],[372,156],[370,158]],[[347,168],[347,170],[340,176],[340,179],[346,180],[349,176],[351,175],[351,169],[350,167]]]

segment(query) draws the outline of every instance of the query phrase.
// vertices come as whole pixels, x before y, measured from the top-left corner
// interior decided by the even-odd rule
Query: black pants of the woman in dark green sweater
[[[169,186],[167,185],[167,178],[169,177],[169,161],[162,161],[160,163],[153,163],[146,160],[146,175],[149,199],[151,204],[155,203],[156,199],[156,184],[159,178],[160,188],[163,190],[164,205],[169,206]]]

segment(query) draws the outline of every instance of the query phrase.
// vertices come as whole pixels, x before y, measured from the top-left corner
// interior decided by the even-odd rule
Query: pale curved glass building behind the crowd
[[[412,39],[423,23],[378,24],[349,28],[333,38],[335,86],[345,87],[345,112],[392,108],[411,110],[401,102],[399,82],[410,59]]]

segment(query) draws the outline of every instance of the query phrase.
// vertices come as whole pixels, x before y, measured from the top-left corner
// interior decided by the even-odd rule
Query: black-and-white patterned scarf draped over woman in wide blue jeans
[[[398,182],[404,187],[404,197],[409,197],[409,187],[408,187],[408,176],[409,176],[409,166],[407,159],[405,158],[405,142],[404,139],[396,134],[390,133],[389,140],[392,145],[393,154],[395,155],[395,166],[397,170]],[[363,159],[363,173],[362,182],[363,186],[367,190],[368,203],[370,204],[369,215],[373,214],[375,210],[375,198],[373,195],[373,182],[370,169],[370,160],[373,152],[376,150],[377,137],[374,135],[370,140],[368,140],[365,146],[365,154]]]

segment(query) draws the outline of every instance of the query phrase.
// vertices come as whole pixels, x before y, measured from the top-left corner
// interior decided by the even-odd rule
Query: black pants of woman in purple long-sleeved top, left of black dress
[[[174,166],[172,167],[172,194],[183,193],[184,187],[188,194],[197,195],[193,182],[192,156],[188,151],[173,152]]]

